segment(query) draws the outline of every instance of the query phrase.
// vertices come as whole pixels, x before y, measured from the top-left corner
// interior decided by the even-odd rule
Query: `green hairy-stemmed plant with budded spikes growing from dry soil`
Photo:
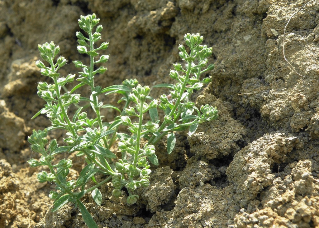
[[[174,64],[174,70],[169,75],[175,79],[176,84],[159,84],[154,87],[167,87],[171,89],[170,95],[161,95],[159,100],[149,96],[149,86],[141,86],[137,80],[125,80],[123,85],[113,85],[108,88],[95,86],[94,77],[106,71],[105,67],[94,67],[96,64],[108,61],[108,55],[99,55],[101,50],[108,48],[108,43],[96,43],[101,39],[102,26],[97,26],[99,19],[95,14],[81,16],[78,20],[79,26],[85,31],[85,35],[77,32],[78,51],[90,58],[89,65],[81,61],[73,61],[75,67],[82,71],[76,75],[61,76],[58,70],[63,67],[67,60],[59,56],[60,48],[53,42],[38,45],[41,58],[47,62],[36,61],[36,66],[41,68],[41,74],[53,79],[53,84],[40,82],[38,84],[38,95],[47,104],[37,114],[46,114],[52,126],[44,130],[35,131],[28,138],[31,149],[41,154],[39,160],[30,159],[31,167],[46,166],[49,171],[42,171],[37,175],[39,182],[55,182],[55,191],[51,191],[49,197],[54,200],[53,211],[58,210],[67,202],[73,202],[78,207],[85,223],[89,227],[97,227],[92,216],[81,202],[84,194],[92,192],[94,201],[101,205],[102,195],[98,188],[112,180],[114,196],[121,195],[121,189],[125,187],[129,193],[127,203],[133,204],[138,196],[134,194],[137,187],[146,187],[150,184],[149,175],[151,169],[149,161],[158,165],[155,154],[155,144],[159,139],[167,137],[167,152],[171,153],[175,145],[174,131],[189,129],[189,135],[193,134],[198,124],[216,119],[218,111],[216,107],[209,105],[201,106],[200,110],[189,99],[195,90],[200,90],[204,83],[210,82],[209,78],[200,79],[200,75],[213,69],[211,64],[207,68],[207,57],[211,55],[211,49],[201,45],[203,37],[199,34],[185,35],[185,43],[189,47],[187,51],[183,45],[179,46],[180,57],[184,65]],[[97,26],[97,27],[96,27]],[[95,31],[94,31],[95,30]],[[79,83],[70,91],[66,90],[67,83],[73,83],[76,78]],[[82,97],[76,91],[82,86],[89,86],[92,91],[89,97]],[[62,90],[63,89],[63,90]],[[119,93],[124,102],[121,109],[118,107],[103,104],[99,101],[99,95]],[[170,98],[168,98],[170,97]],[[82,105],[72,115],[68,113],[71,105]],[[86,104],[90,104],[87,106]],[[86,105],[86,106],[85,106]],[[89,118],[84,107],[92,107],[95,116]],[[103,122],[100,110],[113,108],[119,112],[112,122]],[[160,122],[158,108],[163,110],[165,116]],[[145,115],[149,115],[147,122]],[[137,117],[137,122],[132,122],[131,117]],[[128,127],[127,133],[118,132],[120,125]],[[58,145],[56,139],[48,144],[48,131],[63,129],[66,131],[66,138],[63,145]],[[141,146],[141,139],[146,143]],[[117,142],[122,158],[118,159],[112,151],[111,146]],[[84,156],[86,166],[82,169],[77,179],[69,180],[68,174],[72,161],[62,159],[55,161],[55,155],[59,153],[77,153],[77,156]],[[105,175],[105,179],[98,183],[94,176]],[[87,188],[86,183],[92,180],[95,185]]]

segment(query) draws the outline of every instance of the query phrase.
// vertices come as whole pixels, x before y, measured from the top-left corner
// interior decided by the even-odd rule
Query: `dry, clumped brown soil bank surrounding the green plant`
[[[167,156],[157,145],[159,167],[151,185],[127,194],[100,188],[101,206],[85,196],[99,227],[319,227],[319,7],[301,0],[1,0],[0,1],[0,227],[85,227],[69,203],[50,211],[50,183],[38,183],[38,158],[28,145],[32,129],[49,126],[31,117],[43,101],[37,82],[47,80],[34,61],[37,44],[54,41],[69,61],[81,59],[75,32],[80,15],[96,13],[109,41],[102,87],[137,78],[143,85],[171,83],[186,33],[213,47],[210,83],[194,96],[219,119],[205,123]],[[76,72],[72,64],[60,73]],[[86,91],[83,91],[85,93]],[[152,90],[157,96],[165,90]],[[109,100],[106,100],[109,101]],[[116,102],[116,98],[111,100]],[[114,113],[106,112],[106,120]],[[63,132],[55,132],[60,143]],[[50,135],[52,137],[52,135]],[[78,175],[84,161],[70,156]],[[103,178],[103,177],[97,177]]]

